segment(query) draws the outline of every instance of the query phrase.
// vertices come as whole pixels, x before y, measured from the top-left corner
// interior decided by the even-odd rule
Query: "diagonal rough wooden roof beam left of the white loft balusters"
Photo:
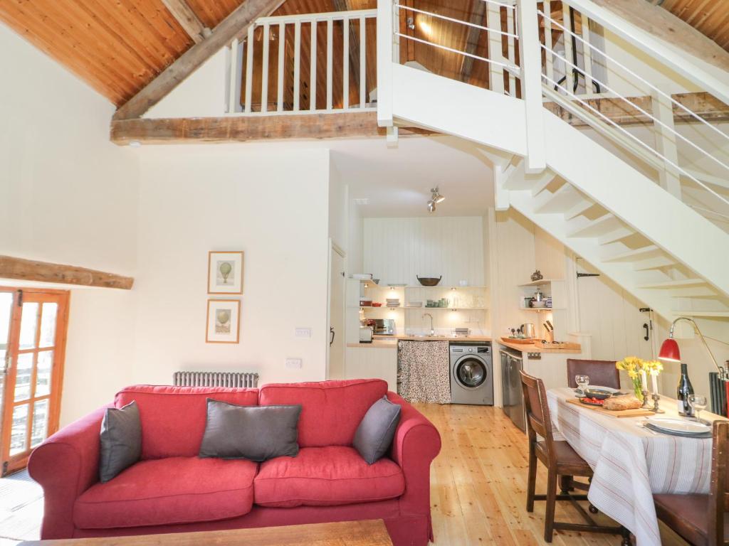
[[[270,15],[284,0],[246,0],[223,19],[210,35],[190,47],[174,63],[144,89],[117,109],[114,119],[132,119],[141,116],[155,106],[171,90],[199,68],[211,55],[225,47],[238,33],[254,24],[259,17]]]

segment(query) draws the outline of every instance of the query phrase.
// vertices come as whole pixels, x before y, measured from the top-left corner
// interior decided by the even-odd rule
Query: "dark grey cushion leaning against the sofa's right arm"
[[[364,414],[354,433],[354,448],[367,464],[378,462],[387,453],[400,421],[400,406],[383,396]]]

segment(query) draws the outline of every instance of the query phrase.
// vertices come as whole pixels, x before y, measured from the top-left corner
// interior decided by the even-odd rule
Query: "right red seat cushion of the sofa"
[[[346,446],[301,448],[295,459],[261,464],[254,499],[265,507],[335,506],[393,499],[405,491],[402,470],[391,459],[367,464]]]

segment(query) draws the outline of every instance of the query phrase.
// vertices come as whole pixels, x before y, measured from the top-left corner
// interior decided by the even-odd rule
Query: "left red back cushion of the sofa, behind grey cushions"
[[[192,457],[200,451],[208,397],[237,405],[257,405],[258,389],[157,387],[135,385],[117,392],[121,408],[136,400],[141,420],[141,459]]]

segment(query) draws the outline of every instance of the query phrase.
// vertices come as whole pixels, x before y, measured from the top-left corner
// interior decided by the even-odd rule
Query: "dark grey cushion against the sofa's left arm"
[[[132,401],[123,408],[107,408],[101,421],[98,478],[106,483],[141,456],[139,408]]]

